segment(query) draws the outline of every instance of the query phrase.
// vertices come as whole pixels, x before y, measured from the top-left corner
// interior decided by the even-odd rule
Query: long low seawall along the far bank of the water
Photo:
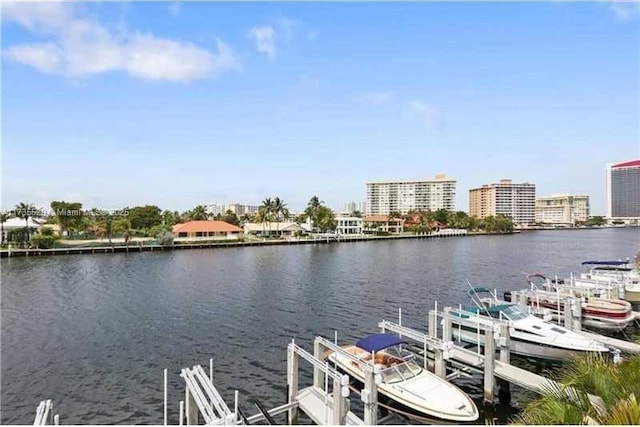
[[[30,257],[46,255],[85,255],[85,254],[110,254],[110,253],[134,253],[134,252],[157,252],[173,251],[183,249],[217,249],[217,248],[241,248],[250,246],[275,246],[275,245],[310,245],[310,244],[332,244],[332,243],[356,243],[371,242],[380,240],[398,239],[441,239],[447,237],[469,237],[469,236],[489,236],[489,235],[511,235],[515,233],[485,233],[485,232],[465,232],[448,234],[429,235],[398,235],[398,236],[341,236],[339,238],[317,237],[311,239],[292,240],[262,240],[262,241],[219,241],[206,243],[180,243],[171,246],[162,245],[112,245],[94,247],[68,247],[52,249],[3,249],[0,251],[0,258]]]

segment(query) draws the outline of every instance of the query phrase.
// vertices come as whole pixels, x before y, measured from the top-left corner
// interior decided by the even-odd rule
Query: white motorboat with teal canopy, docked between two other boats
[[[489,297],[481,297],[480,294]],[[565,360],[585,353],[608,353],[604,344],[546,322],[529,313],[526,307],[499,300],[487,288],[473,288],[467,295],[476,305],[466,309],[450,309],[452,334],[460,341],[484,345],[482,328],[498,329],[500,322],[509,325],[510,351],[525,357]],[[456,317],[461,319],[456,322]]]

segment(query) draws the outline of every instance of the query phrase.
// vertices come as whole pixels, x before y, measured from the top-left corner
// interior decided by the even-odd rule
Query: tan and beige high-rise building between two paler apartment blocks
[[[469,190],[469,216],[508,215],[516,224],[532,224],[536,216],[535,184],[510,179]]]

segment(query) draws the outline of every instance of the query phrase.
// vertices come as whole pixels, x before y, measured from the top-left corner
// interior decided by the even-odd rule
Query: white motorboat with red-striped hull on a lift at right
[[[534,283],[534,278],[540,278],[542,282]],[[553,283],[539,273],[527,275],[527,281],[530,289],[505,292],[504,299],[508,302],[526,304],[533,308],[533,314],[539,317],[549,311],[553,320],[561,321],[565,299],[574,298],[580,301],[581,323],[586,328],[618,332],[635,320],[631,304],[627,301],[589,296],[588,292],[585,294],[575,287]]]

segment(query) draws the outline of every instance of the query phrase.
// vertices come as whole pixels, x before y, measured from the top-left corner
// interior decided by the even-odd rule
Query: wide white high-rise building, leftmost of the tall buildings
[[[456,180],[438,174],[434,179],[367,183],[367,215],[407,213],[410,210],[455,210]]]

